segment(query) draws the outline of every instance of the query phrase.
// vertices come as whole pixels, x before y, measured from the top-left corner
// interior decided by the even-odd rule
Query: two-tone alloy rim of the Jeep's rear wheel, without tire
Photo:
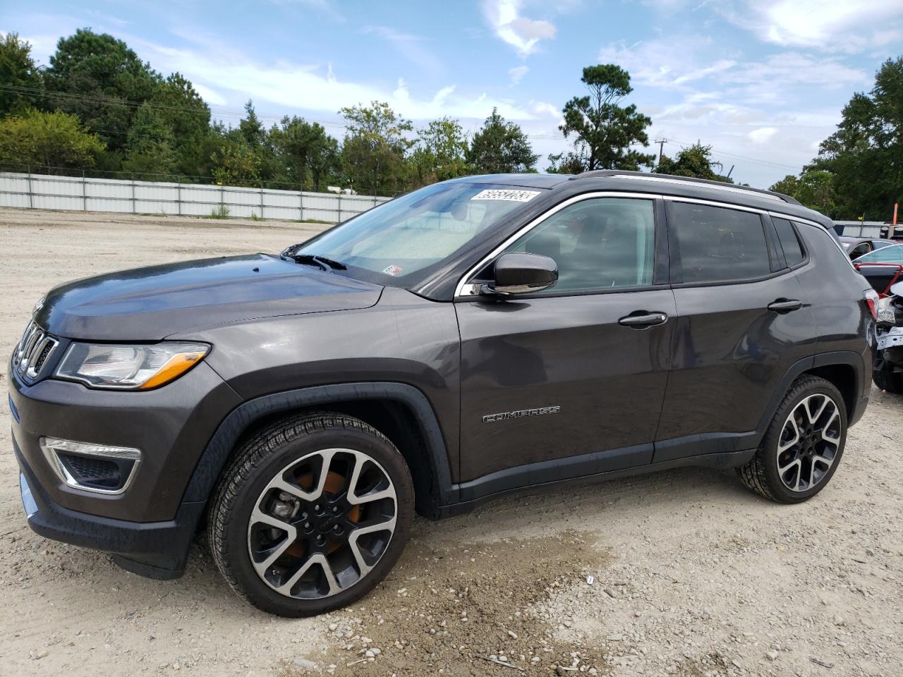
[[[796,404],[777,441],[777,475],[791,491],[804,492],[828,475],[842,438],[837,403],[813,394]]]

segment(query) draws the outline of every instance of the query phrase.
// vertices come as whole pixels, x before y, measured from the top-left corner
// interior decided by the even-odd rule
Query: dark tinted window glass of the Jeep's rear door
[[[668,230],[675,283],[730,282],[771,274],[759,214],[669,202]]]

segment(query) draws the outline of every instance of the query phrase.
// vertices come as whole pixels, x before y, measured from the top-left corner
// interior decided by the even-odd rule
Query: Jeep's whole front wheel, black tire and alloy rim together
[[[210,510],[210,545],[229,585],[286,617],[363,597],[392,569],[414,516],[405,459],[367,423],[294,416],[237,450]]]

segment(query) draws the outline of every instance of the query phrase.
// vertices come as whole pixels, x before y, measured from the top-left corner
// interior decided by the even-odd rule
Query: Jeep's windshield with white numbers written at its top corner
[[[487,183],[437,183],[393,199],[303,243],[368,281],[404,285],[497,224],[540,190]],[[372,273],[375,275],[370,275]]]

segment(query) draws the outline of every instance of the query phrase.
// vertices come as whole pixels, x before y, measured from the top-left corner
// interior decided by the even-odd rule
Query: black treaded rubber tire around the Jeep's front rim
[[[263,574],[258,575],[255,569],[249,552],[251,514],[262,492],[273,490],[268,488],[271,480],[281,476],[285,468],[317,451],[336,448],[366,454],[391,480],[396,493],[394,532],[372,570],[361,575],[357,582],[321,598],[289,597],[265,583]],[[365,422],[340,413],[300,414],[256,431],[235,452],[219,480],[210,507],[210,551],[229,586],[248,603],[278,616],[315,616],[349,605],[383,580],[405,548],[413,518],[411,473],[401,453],[385,435]],[[298,528],[300,533],[300,524]],[[285,541],[288,540],[286,533]]]

